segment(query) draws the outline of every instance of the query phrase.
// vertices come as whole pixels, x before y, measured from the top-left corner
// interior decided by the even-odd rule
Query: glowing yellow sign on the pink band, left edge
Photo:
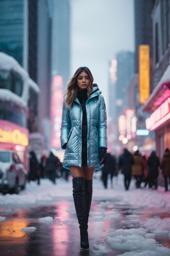
[[[29,144],[29,139],[18,129],[13,130],[12,132],[0,129],[0,142],[10,142],[13,144],[27,146]]]

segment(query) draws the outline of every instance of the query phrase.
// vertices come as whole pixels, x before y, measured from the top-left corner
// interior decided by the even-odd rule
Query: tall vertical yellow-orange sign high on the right
[[[150,48],[139,45],[139,103],[144,104],[150,93]]]

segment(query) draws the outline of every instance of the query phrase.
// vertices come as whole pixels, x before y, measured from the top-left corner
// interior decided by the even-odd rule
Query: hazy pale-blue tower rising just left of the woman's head
[[[52,76],[62,76],[64,88],[70,78],[70,3],[49,0],[52,13]]]

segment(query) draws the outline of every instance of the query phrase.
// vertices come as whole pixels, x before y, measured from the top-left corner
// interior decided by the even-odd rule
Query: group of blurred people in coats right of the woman
[[[168,191],[168,180],[170,184],[170,149],[166,148],[161,161],[156,154],[155,150],[152,150],[149,157],[142,155],[139,150],[133,154],[127,148],[124,148],[123,153],[119,157],[115,157],[110,153],[107,153],[108,160],[106,161],[104,168],[102,168],[102,181],[104,188],[107,189],[108,176],[110,175],[111,187],[113,187],[113,177],[117,176],[120,172],[124,175],[124,187],[129,189],[130,182],[133,178],[135,187],[143,187],[150,189],[157,189],[159,169],[164,178],[165,191]]]

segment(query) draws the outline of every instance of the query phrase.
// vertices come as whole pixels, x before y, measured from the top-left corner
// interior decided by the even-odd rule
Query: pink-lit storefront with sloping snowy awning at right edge
[[[144,112],[152,112],[146,128],[155,131],[157,155],[161,159],[165,148],[170,148],[170,65],[144,104]]]

